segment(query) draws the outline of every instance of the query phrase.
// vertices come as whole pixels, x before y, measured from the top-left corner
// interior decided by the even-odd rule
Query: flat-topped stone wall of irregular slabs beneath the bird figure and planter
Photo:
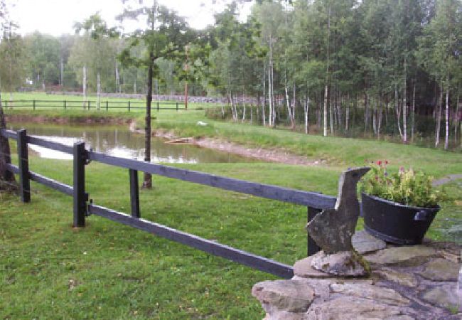
[[[429,241],[396,247],[365,231],[353,245],[370,263],[371,277],[333,277],[313,270],[314,256],[307,257],[296,262],[294,278],[254,285],[265,319],[462,319],[461,247]]]

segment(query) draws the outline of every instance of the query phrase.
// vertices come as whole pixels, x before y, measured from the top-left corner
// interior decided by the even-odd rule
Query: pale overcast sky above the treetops
[[[147,1],[150,2],[150,1]],[[178,14],[188,18],[193,28],[213,24],[213,13],[220,12],[227,0],[159,0]],[[10,15],[19,24],[21,34],[40,31],[53,36],[74,33],[74,22],[83,21],[100,11],[108,26],[117,24],[114,17],[122,13],[121,0],[7,0]],[[250,4],[242,9],[242,18],[250,11]]]

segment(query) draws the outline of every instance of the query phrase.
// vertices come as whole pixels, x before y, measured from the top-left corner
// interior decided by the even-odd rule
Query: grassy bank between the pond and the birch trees
[[[424,170],[434,176],[462,173],[462,153],[394,144],[366,139],[321,137],[285,129],[270,129],[206,119],[203,112],[161,112],[154,126],[181,137],[212,137],[252,147],[282,148],[307,159],[323,160],[329,166],[363,166],[365,161],[388,160],[391,169],[399,166]],[[207,126],[197,125],[198,121]]]

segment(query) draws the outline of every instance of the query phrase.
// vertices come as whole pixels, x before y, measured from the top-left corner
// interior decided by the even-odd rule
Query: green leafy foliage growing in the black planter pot
[[[448,200],[444,191],[431,186],[432,176],[421,171],[405,170],[387,171],[388,161],[377,161],[359,183],[360,191],[370,196],[377,196],[407,206],[434,208]]]

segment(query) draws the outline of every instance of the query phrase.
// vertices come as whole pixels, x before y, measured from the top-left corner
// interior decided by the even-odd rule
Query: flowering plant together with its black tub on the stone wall
[[[432,188],[433,177],[404,168],[389,174],[387,164],[372,164],[360,182],[365,230],[397,245],[417,245],[446,195]]]

